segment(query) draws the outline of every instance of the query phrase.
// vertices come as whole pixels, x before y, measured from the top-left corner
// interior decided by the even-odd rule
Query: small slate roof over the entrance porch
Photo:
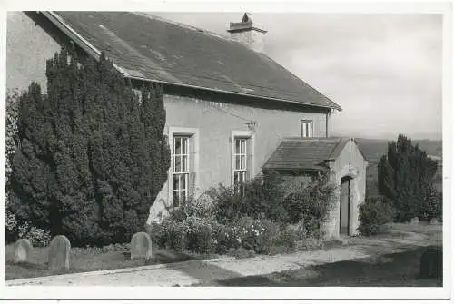
[[[262,170],[297,171],[326,169],[325,162],[335,160],[350,138],[287,138],[272,153]]]

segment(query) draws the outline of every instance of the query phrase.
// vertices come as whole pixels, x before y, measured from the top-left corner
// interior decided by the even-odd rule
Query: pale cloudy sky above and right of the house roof
[[[217,34],[242,13],[153,13]],[[333,134],[441,139],[442,16],[252,14],[265,54],[342,107]]]

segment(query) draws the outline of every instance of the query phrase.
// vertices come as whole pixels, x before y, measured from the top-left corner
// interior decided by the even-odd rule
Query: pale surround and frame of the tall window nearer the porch
[[[237,169],[236,168],[236,156],[240,155],[236,153],[235,150],[235,141],[236,139],[245,139],[246,141],[244,142],[244,151],[242,153],[244,157],[244,167],[245,170],[243,169]],[[249,146],[250,149],[248,151],[247,149],[247,142],[250,142]],[[255,134],[251,131],[232,131],[231,132],[231,184],[234,186],[235,184],[235,172],[245,172],[243,173],[246,177],[245,181],[248,179],[252,179],[255,176]],[[248,163],[248,156],[250,162]]]

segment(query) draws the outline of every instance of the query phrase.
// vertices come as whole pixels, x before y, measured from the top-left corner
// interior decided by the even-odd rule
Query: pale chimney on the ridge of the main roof
[[[267,31],[259,25],[252,23],[252,16],[245,13],[242,16],[242,22],[231,22],[230,29],[227,30],[232,39],[250,47],[253,51],[263,53],[263,36]]]

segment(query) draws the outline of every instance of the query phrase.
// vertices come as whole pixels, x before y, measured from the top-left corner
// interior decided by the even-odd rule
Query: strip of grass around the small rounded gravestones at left
[[[5,279],[25,279],[45,277],[64,273],[87,272],[95,270],[114,270],[130,267],[139,267],[153,264],[173,263],[183,260],[202,260],[212,258],[213,255],[180,253],[173,250],[153,250],[153,260],[131,260],[129,251],[110,250],[94,252],[93,249],[72,248],[70,255],[70,269],[51,271],[47,269],[48,248],[34,248],[30,263],[15,264],[14,244],[6,245],[5,251]]]

